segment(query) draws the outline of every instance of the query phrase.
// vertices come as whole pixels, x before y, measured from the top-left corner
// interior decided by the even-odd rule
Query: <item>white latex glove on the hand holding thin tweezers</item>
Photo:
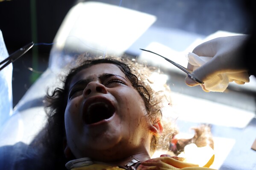
[[[229,82],[237,84],[249,82],[247,68],[242,59],[243,44],[248,35],[218,37],[197,46],[188,54],[188,69],[191,75],[204,82],[205,92],[224,92]],[[188,86],[197,86],[197,82],[186,77]]]

